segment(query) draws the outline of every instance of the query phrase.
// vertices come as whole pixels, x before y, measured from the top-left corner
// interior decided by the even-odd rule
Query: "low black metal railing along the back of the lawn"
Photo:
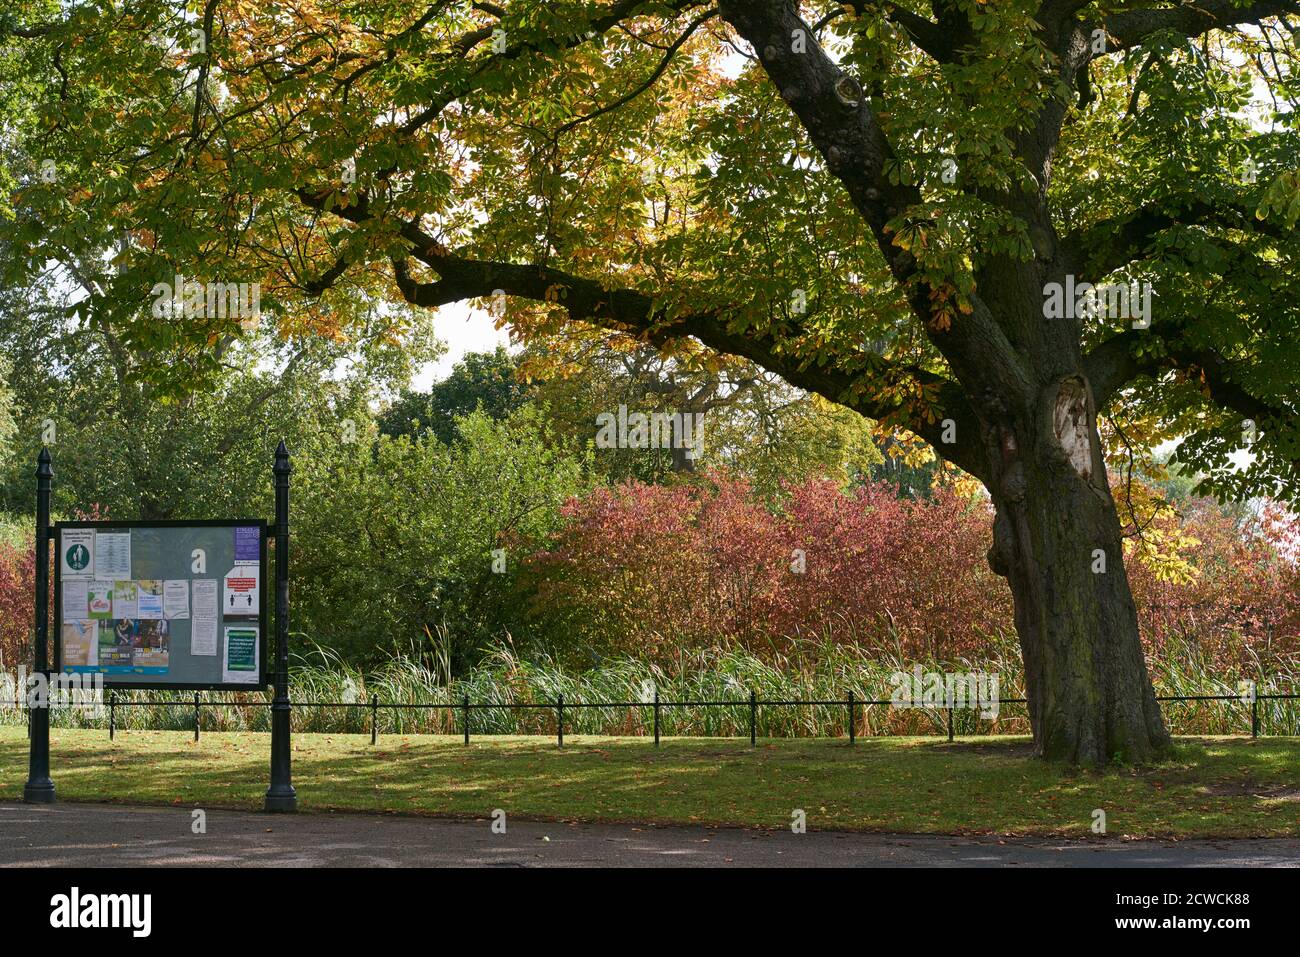
[[[1260,737],[1260,702],[1261,701],[1296,701],[1300,700],[1300,693],[1274,693],[1274,694],[1164,694],[1157,696],[1158,702],[1191,702],[1191,701],[1228,701],[1238,702],[1242,705],[1249,705],[1251,707],[1251,737]],[[949,703],[946,700],[944,703],[936,703],[933,706],[909,706],[909,710],[927,711],[931,714],[946,711],[946,733],[948,740],[952,741],[956,736],[956,722],[954,715],[957,711],[974,710],[984,711],[993,705],[1001,710],[1002,705],[1024,705],[1026,698],[998,698],[996,701],[979,701],[967,705],[958,706],[956,703]],[[5,702],[8,706],[9,702]],[[194,740],[199,740],[200,728],[203,724],[202,713],[204,707],[221,709],[221,707],[270,707],[270,701],[204,701],[199,692],[194,693],[192,701],[134,701],[134,700],[118,700],[114,692],[109,692],[108,703],[100,705],[108,710],[108,736],[109,740],[117,733],[117,709],[122,707],[191,707],[194,710]],[[777,698],[759,698],[757,692],[750,692],[748,698],[740,700],[724,700],[724,701],[660,701],[659,693],[655,692],[653,700],[650,701],[566,701],[564,696],[560,694],[555,701],[520,701],[520,702],[472,702],[468,696],[463,696],[459,702],[399,702],[399,701],[380,701],[377,694],[372,694],[369,701],[292,701],[291,706],[294,709],[308,709],[308,707],[333,707],[333,709],[367,709],[370,713],[370,744],[378,741],[380,735],[380,711],[381,710],[443,710],[452,715],[452,724],[455,724],[456,714],[460,716],[460,731],[464,737],[464,742],[469,744],[471,737],[471,720],[474,711],[493,711],[493,710],[534,710],[543,709],[555,713],[555,727],[556,727],[556,744],[564,746],[564,711],[566,709],[581,710],[581,709],[650,709],[653,711],[653,728],[654,728],[654,742],[659,744],[660,729],[662,729],[662,715],[666,709],[710,709],[710,707],[729,707],[729,709],[749,709],[749,742],[751,745],[758,741],[758,724],[759,724],[759,710],[763,707],[842,707],[845,709],[845,728],[849,739],[849,744],[854,744],[857,733],[857,718],[861,713],[863,716],[867,714],[867,709],[871,707],[894,707],[890,700],[879,698],[861,698],[853,690],[849,690],[842,700],[777,700]],[[13,702],[16,710],[22,709],[22,701],[16,700]],[[30,732],[30,720],[29,720]],[[346,733],[346,732],[330,732],[330,733]],[[358,732],[364,733],[364,732]],[[477,732],[480,736],[491,736],[499,732]],[[944,733],[942,731],[939,732]],[[1243,732],[1244,733],[1244,732]],[[540,735],[538,735],[540,736]],[[640,735],[633,735],[640,736]],[[887,733],[874,733],[870,737],[890,737],[893,735]],[[966,736],[966,735],[963,735]],[[975,732],[971,736],[987,736],[997,737],[997,733]],[[1275,735],[1278,737],[1291,737],[1291,735]],[[696,736],[698,737],[698,735]],[[790,736],[793,737],[793,736]]]

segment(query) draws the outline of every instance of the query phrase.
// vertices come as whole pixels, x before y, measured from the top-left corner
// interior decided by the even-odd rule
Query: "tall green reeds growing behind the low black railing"
[[[844,702],[852,689],[858,702],[888,701],[890,675],[909,671],[916,662],[892,654],[868,654],[854,644],[824,636],[803,641],[768,659],[741,649],[682,653],[670,664],[637,659],[606,661],[573,670],[543,654],[521,657],[508,645],[493,648],[469,674],[447,677],[446,659],[434,653],[396,657],[369,674],[343,662],[328,649],[312,648],[295,657],[290,668],[292,722],[299,732],[365,735],[370,731],[372,697],[381,705],[421,705],[419,709],[380,707],[384,735],[463,733],[462,703],[468,697],[472,735],[555,735],[555,703],[564,697],[564,727],[569,735],[651,735],[656,689],[663,736],[748,736],[749,696],[763,701]],[[428,663],[426,663],[428,662]],[[1023,671],[1014,638],[992,640],[978,661],[931,659],[924,671],[983,671],[1000,677],[1000,697],[1020,698]],[[1238,683],[1258,681],[1261,696],[1300,689],[1295,662],[1273,662],[1266,674],[1209,674],[1193,645],[1166,646],[1149,662],[1160,696],[1225,694],[1230,701],[1164,702],[1166,722],[1178,735],[1251,733],[1251,706],[1240,701]],[[269,731],[269,694],[204,693],[204,731]],[[8,700],[4,700],[8,698]],[[194,728],[192,692],[116,692],[116,723],[122,729],[188,731]],[[169,702],[136,706],[138,702]],[[727,706],[676,706],[675,702],[725,701]],[[174,703],[172,703],[174,702]],[[641,702],[641,703],[637,703]],[[495,707],[530,705],[534,707]],[[594,706],[601,705],[601,706]],[[630,706],[628,706],[630,705]],[[489,707],[494,706],[494,707]],[[53,727],[107,728],[101,714],[56,710]],[[892,709],[863,705],[855,709],[855,733],[946,735],[945,709]],[[1258,702],[1261,735],[1300,735],[1300,700]],[[25,720],[12,690],[0,694],[0,724]],[[1005,703],[996,719],[974,710],[953,713],[957,735],[1024,735],[1030,732],[1026,707]],[[758,710],[760,737],[836,737],[848,735],[848,707],[835,705],[763,705]]]

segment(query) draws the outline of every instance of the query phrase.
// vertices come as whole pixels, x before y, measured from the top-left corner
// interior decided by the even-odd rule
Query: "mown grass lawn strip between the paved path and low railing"
[[[270,737],[53,729],[51,772],[66,801],[260,807]],[[303,811],[398,811],[809,828],[1091,836],[1300,835],[1300,741],[1179,739],[1157,767],[1067,772],[1024,739],[554,740],[295,735]],[[27,778],[22,727],[0,727],[0,800]]]

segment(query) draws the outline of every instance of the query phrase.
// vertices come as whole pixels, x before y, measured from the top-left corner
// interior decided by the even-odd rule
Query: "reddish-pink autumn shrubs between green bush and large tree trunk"
[[[566,644],[662,659],[710,646],[780,651],[827,635],[894,655],[975,654],[1010,622],[984,562],[987,506],[885,484],[786,486],[768,507],[745,481],[628,482],[564,507],[528,566],[538,616]]]

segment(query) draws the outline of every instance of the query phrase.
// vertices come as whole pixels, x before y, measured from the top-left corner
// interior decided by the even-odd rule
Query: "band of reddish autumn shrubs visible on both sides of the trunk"
[[[979,661],[1014,636],[1010,592],[988,568],[991,514],[937,488],[786,486],[779,505],[738,478],[628,482],[564,506],[528,562],[555,646],[664,661],[703,648],[780,657],[831,638],[902,661]],[[1152,536],[1162,536],[1158,547]],[[1300,654],[1300,527],[1275,507],[1232,518],[1212,502],[1165,510],[1130,551],[1148,653],[1196,655],[1225,674]]]

